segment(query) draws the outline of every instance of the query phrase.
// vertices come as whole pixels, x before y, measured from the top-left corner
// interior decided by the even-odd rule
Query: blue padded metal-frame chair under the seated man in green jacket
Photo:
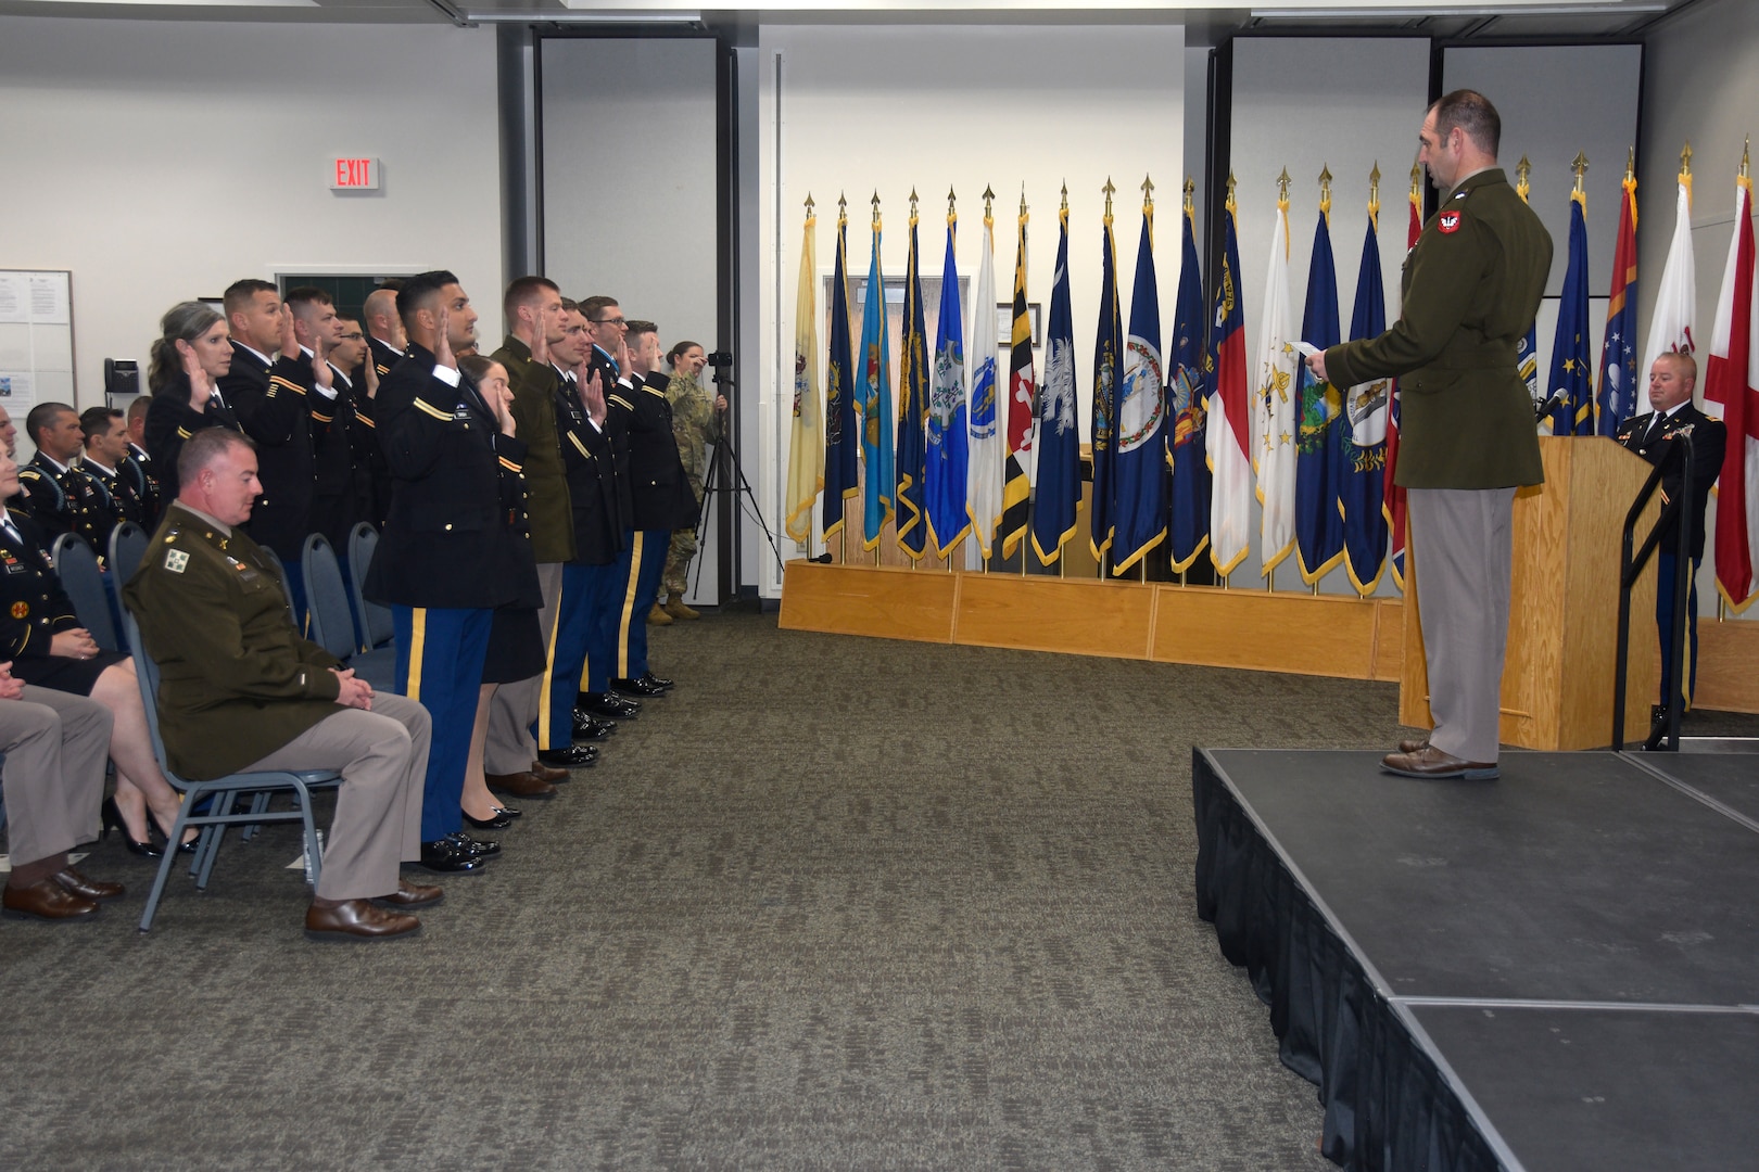
[[[199,891],[208,889],[208,879],[213,875],[215,859],[220,854],[220,842],[225,838],[227,826],[297,821],[304,826],[306,870],[311,875],[313,889],[317,889],[324,856],[318,849],[317,826],[311,821],[311,791],[320,785],[341,784],[341,775],[334,770],[273,770],[262,773],[232,773],[211,782],[190,782],[178,777],[171,770],[171,763],[165,761],[165,742],[158,734],[158,664],[146,654],[146,645],[141,641],[141,624],[135,622],[134,615],[123,617],[123,631],[128,638],[128,650],[134,655],[135,678],[141,684],[146,727],[153,734],[153,757],[158,761],[158,768],[164,770],[165,780],[183,792],[183,805],[178,807],[178,821],[172,824],[165,842],[183,842],[185,828],[193,826],[201,829],[201,838],[197,840],[201,845],[197,845],[195,859],[190,865],[195,887]],[[292,792],[297,808],[232,814],[232,801],[239,794],[266,798],[271,792]],[[259,805],[262,803],[259,801]],[[202,812],[197,814],[197,810]],[[141,912],[141,931],[153,928],[153,914],[158,910],[158,900],[165,893],[165,880],[171,877],[171,868],[178,857],[176,850],[165,850],[165,857],[158,861],[153,891],[146,896],[146,910]]]

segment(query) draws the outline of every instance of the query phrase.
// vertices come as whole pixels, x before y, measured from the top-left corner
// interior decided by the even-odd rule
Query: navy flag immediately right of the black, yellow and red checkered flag
[[[1033,552],[1048,566],[1075,536],[1082,499],[1082,436],[1075,425],[1075,315],[1069,309],[1069,206],[1057,213],[1057,271],[1045,320],[1045,385],[1038,395],[1038,503]]]

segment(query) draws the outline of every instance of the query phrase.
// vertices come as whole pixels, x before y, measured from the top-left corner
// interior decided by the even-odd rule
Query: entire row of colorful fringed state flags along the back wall
[[[1564,297],[1548,380],[1537,381],[1534,337],[1523,346],[1543,430],[1611,436],[1646,409],[1643,388],[1653,357],[1694,348],[1690,174],[1680,176],[1678,216],[1648,332],[1636,362],[1636,179],[1627,169],[1613,260],[1606,337],[1599,362],[1588,355],[1587,199],[1571,193]],[[1423,227],[1420,172],[1412,169],[1405,244]],[[1377,179],[1356,279],[1349,337],[1386,329],[1381,283]],[[1525,176],[1520,184],[1525,195]],[[1230,575],[1251,545],[1259,504],[1261,573],[1293,557],[1307,583],[1342,566],[1360,594],[1376,590],[1390,568],[1404,585],[1404,494],[1398,460],[1397,385],[1332,387],[1300,360],[1302,343],[1342,339],[1332,251],[1330,174],[1321,209],[1300,329],[1289,295],[1288,177],[1272,225],[1270,267],[1259,318],[1256,364],[1245,353],[1238,213],[1230,179],[1221,269],[1205,299],[1198,267],[1191,184],[1186,184],[1179,295],[1170,344],[1163,346],[1154,269],[1152,183],[1143,183],[1142,235],[1129,318],[1122,313],[1113,237],[1112,186],[1101,230],[1101,293],[1091,365],[1092,508],[1089,548],[1112,575],[1133,571],[1164,548],[1175,571],[1207,552]],[[989,195],[989,193],[985,193]],[[1736,438],[1722,469],[1717,513],[1717,580],[1745,606],[1755,596],[1759,562],[1759,297],[1754,295],[1750,181],[1743,163],[1724,293],[1704,374],[1704,397],[1720,404]],[[813,504],[823,490],[821,532],[848,525],[874,550],[895,522],[913,559],[946,557],[964,539],[987,561],[1031,543],[1040,564],[1057,562],[1077,531],[1082,492],[1077,427],[1077,355],[1069,304],[1069,214],[1059,213],[1057,260],[1045,322],[1043,371],[1034,369],[1027,309],[1025,200],[1018,213],[1008,369],[999,369],[994,218],[985,202],[973,311],[960,313],[955,265],[957,216],[948,209],[939,323],[932,350],[923,329],[918,223],[909,221],[902,353],[897,408],[892,402],[888,322],[880,271],[878,202],[858,350],[848,313],[848,220],[837,220],[830,339],[823,408],[818,381],[816,218],[807,207],[795,311],[795,408],[788,469],[786,529],[811,536]],[[964,327],[964,329],[960,329]],[[1164,355],[1164,358],[1163,358]],[[1641,371],[1641,374],[1639,374]],[[1595,378],[1597,373],[1597,378]],[[821,411],[821,413],[820,413]],[[865,467],[858,476],[857,460]],[[862,497],[857,517],[846,517]],[[1103,569],[1105,573],[1105,569]]]

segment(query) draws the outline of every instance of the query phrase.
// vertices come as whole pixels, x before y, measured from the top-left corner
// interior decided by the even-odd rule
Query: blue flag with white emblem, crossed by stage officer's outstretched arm
[[[1369,235],[1361,241],[1356,271],[1356,307],[1349,315],[1349,337],[1379,337],[1386,330],[1386,286],[1381,283],[1379,204],[1369,211]],[[1344,515],[1344,569],[1356,594],[1374,594],[1386,569],[1386,438],[1391,383],[1384,378],[1344,392],[1346,429],[1344,483],[1339,510]]]

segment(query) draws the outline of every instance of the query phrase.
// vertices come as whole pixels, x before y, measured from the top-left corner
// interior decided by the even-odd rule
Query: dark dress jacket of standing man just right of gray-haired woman
[[[264,365],[250,350],[232,343],[232,367],[220,380],[220,394],[232,404],[245,434],[257,441],[257,478],[262,496],[250,510],[250,534],[281,555],[299,561],[311,532],[311,490],[317,481],[311,459],[311,360],[281,355]]]

